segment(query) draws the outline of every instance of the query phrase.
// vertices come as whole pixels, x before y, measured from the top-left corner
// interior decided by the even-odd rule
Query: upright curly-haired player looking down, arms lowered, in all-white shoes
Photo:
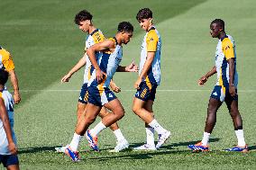
[[[133,98],[133,112],[145,121],[147,143],[135,150],[155,150],[169,139],[170,132],[160,126],[154,119],[152,106],[157,86],[160,85],[160,33],[152,23],[152,12],[143,8],[137,13],[137,21],[146,35],[142,41],[139,77],[134,84],[137,92]],[[159,134],[158,143],[154,143],[154,130]]]

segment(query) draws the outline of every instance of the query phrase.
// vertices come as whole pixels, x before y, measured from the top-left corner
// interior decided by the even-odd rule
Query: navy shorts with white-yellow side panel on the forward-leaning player
[[[109,103],[114,99],[116,99],[116,96],[108,87],[103,87],[102,89],[96,86],[88,87],[88,103],[103,106],[105,103]]]

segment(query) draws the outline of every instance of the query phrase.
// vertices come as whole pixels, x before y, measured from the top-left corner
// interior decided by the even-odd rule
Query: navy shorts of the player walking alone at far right
[[[237,93],[237,89],[235,92]],[[211,98],[221,102],[238,101],[238,95],[231,96],[231,94],[229,94],[229,87],[224,87],[222,85],[215,85]]]

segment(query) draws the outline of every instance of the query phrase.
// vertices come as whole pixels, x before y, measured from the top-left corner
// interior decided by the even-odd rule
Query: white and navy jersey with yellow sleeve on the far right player
[[[228,59],[234,58],[233,85],[238,85],[238,74],[236,71],[236,51],[232,36],[225,35],[218,41],[215,52],[215,67],[217,71],[217,83],[223,87],[229,86],[229,64]]]

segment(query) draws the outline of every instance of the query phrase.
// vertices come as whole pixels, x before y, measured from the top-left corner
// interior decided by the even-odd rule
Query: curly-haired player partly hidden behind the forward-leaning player
[[[69,73],[65,76],[63,76],[61,78],[61,82],[69,82],[69,79],[71,78],[71,76],[78,71],[78,69],[80,69],[81,67],[85,67],[85,74],[84,74],[84,85],[82,85],[81,88],[81,92],[80,92],[80,96],[78,99],[78,118],[80,117],[80,115],[85,112],[86,107],[87,107],[87,84],[89,82],[90,77],[92,76],[91,70],[92,70],[92,65],[91,62],[89,60],[89,58],[87,57],[87,49],[89,47],[91,47],[92,45],[101,42],[103,40],[105,40],[105,36],[103,35],[102,31],[96,29],[96,27],[94,26],[93,22],[92,22],[92,14],[87,12],[87,10],[83,10],[80,11],[76,17],[75,17],[75,22],[76,24],[78,24],[79,29],[87,32],[88,33],[88,37],[86,40],[86,48],[85,48],[85,54],[83,56],[83,58],[81,58],[78,63],[75,65],[75,67],[73,67],[72,69],[70,69]],[[127,69],[130,72],[135,72],[137,71],[137,66],[134,65],[134,63],[132,63],[130,66],[127,67]],[[110,82],[110,87],[112,88],[112,90],[115,93],[119,93],[121,91],[121,89],[114,84],[113,81]],[[99,113],[99,116],[101,118],[104,118],[106,115],[108,114],[107,110],[103,107],[101,112]],[[123,133],[122,131],[119,129],[117,122],[114,122],[114,124],[112,124],[110,126],[110,129],[113,130],[115,138],[117,140],[117,145],[114,148],[114,151],[118,152],[123,150],[124,148],[128,148],[129,143],[128,141],[123,137]],[[96,130],[92,129],[90,130],[93,138],[95,140],[97,140],[96,137]],[[65,147],[64,147],[65,148]],[[56,148],[58,151],[64,151],[63,148]]]

